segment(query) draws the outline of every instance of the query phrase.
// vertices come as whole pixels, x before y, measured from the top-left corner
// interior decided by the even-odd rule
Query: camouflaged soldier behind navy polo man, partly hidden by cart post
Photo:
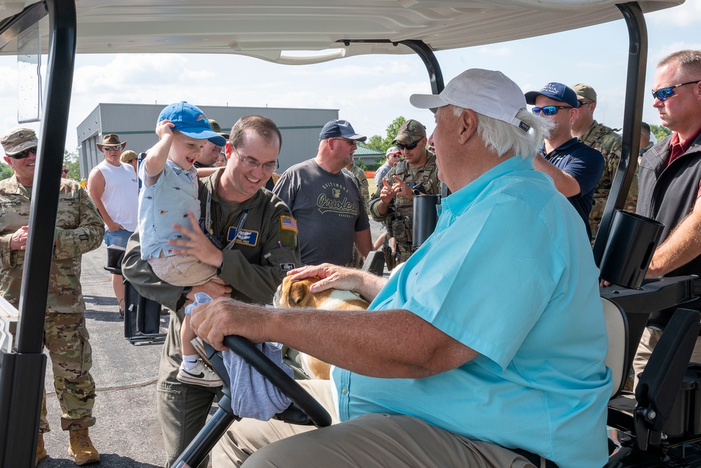
[[[572,135],[579,138],[580,142],[597,149],[604,156],[604,173],[597,188],[594,190],[594,206],[589,213],[589,224],[592,228],[592,243],[597,237],[601,215],[604,214],[604,206],[608,199],[608,192],[611,190],[613,176],[618,161],[620,161],[621,138],[618,128],[608,128],[602,123],[594,120],[594,109],[597,108],[597,93],[589,85],[579,83],[572,86],[577,93],[579,101],[579,112],[576,121],[572,124]],[[637,163],[637,159],[634,161]],[[630,189],[625,203],[625,210],[635,213],[635,206],[638,201],[638,170],[637,165],[635,175],[630,183]]]

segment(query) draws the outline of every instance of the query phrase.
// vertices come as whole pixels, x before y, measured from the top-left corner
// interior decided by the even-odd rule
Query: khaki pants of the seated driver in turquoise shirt
[[[329,381],[299,384],[329,410],[331,426],[315,429],[278,420],[234,422],[212,452],[213,466],[533,467],[510,450],[470,441],[410,416],[371,414],[339,423]]]

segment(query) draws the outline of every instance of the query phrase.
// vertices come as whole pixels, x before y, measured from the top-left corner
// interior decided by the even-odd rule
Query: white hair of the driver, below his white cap
[[[456,116],[463,113],[462,107],[453,106]],[[516,118],[531,127],[531,131],[524,132],[521,128],[503,120],[493,119],[484,114],[479,114],[477,121],[477,133],[484,140],[486,147],[494,150],[501,157],[508,152],[513,152],[523,159],[531,158],[538,152],[538,145],[543,141],[543,135],[552,128],[552,122],[521,109]]]

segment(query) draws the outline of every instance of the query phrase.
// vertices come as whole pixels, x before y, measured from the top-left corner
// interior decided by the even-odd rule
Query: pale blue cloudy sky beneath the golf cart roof
[[[701,1],[646,15],[648,74],[643,119],[659,124],[649,89],[655,63],[682,48],[701,49]],[[620,128],[623,119],[627,29],[623,20],[491,46],[438,52],[446,83],[465,69],[498,69],[522,89],[549,81],[590,84],[599,95],[594,118]],[[17,125],[16,58],[0,58],[0,128]],[[397,116],[433,130],[433,114],[409,105],[411,93],[430,93],[418,56],[361,55],[318,65],[275,65],[234,55],[79,55],[67,148],[77,147],[76,126],[100,102],[168,105],[311,107],[339,109],[364,135],[385,135]],[[38,128],[39,124],[29,124]],[[310,155],[311,156],[311,155]]]

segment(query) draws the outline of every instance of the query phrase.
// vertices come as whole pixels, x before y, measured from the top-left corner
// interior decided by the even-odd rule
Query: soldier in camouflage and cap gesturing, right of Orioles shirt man
[[[399,262],[414,252],[414,194],[440,194],[436,156],[426,149],[426,127],[407,120],[393,140],[404,159],[390,169],[381,187],[370,200],[372,219],[383,222],[390,237],[397,241]]]

